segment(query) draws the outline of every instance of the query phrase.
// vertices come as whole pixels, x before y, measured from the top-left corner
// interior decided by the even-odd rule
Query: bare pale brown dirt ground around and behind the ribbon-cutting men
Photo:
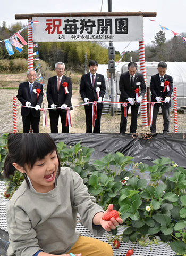
[[[13,96],[16,96],[18,90],[0,90],[0,132],[1,133],[12,133],[13,132],[13,117],[12,117],[12,107],[13,107]],[[79,102],[82,103],[80,99],[79,92],[76,91],[72,95],[72,105],[77,105]],[[19,101],[17,100],[17,104]],[[43,100],[43,107],[47,108],[48,103],[46,97]],[[22,132],[22,117],[21,117],[21,107],[17,107],[17,132]],[[47,113],[47,124],[48,127],[43,127],[43,115],[41,115],[39,131],[41,133],[50,133],[50,123],[49,123],[49,115]],[[71,111],[72,118],[72,127],[70,128],[70,133],[85,133],[86,132],[86,119],[84,114],[84,107],[75,107]],[[121,115],[114,114],[111,116],[111,113],[102,115],[101,121],[101,133],[119,133]],[[186,132],[186,114],[177,114],[177,125],[178,132],[185,133]],[[127,133],[129,133],[131,117],[128,115],[128,127]],[[162,133],[163,130],[163,117],[162,115],[158,115],[157,118],[157,133]],[[59,121],[58,132],[61,132],[61,122]],[[141,125],[141,117],[138,117],[138,133],[150,133],[149,127],[143,127]],[[174,114],[171,112],[170,114],[170,133],[174,133]]]

